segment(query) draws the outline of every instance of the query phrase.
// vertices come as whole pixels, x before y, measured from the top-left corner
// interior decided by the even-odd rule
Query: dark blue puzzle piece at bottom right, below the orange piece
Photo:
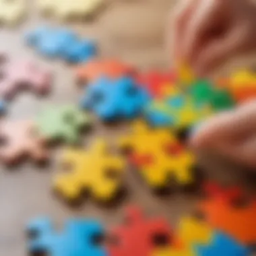
[[[226,234],[216,232],[210,245],[195,246],[199,256],[249,256],[250,251]]]

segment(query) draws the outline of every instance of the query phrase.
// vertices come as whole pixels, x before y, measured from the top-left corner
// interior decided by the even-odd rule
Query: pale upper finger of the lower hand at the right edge
[[[241,141],[256,131],[256,101],[205,121],[191,137],[194,148],[216,148],[220,141]],[[215,149],[216,150],[216,149]]]

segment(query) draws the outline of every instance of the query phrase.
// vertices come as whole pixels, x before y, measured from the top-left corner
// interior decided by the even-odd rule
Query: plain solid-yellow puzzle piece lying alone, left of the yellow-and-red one
[[[108,154],[104,141],[96,141],[88,151],[66,150],[61,162],[70,166],[70,172],[59,174],[54,185],[69,200],[88,189],[92,197],[109,201],[121,189],[124,162]]]

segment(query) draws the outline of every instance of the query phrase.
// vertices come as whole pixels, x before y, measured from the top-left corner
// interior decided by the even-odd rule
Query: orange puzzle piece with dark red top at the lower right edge
[[[214,228],[228,234],[243,245],[256,242],[256,200],[245,205],[235,205],[241,201],[239,189],[215,188],[212,197],[199,203],[198,209],[205,220]]]

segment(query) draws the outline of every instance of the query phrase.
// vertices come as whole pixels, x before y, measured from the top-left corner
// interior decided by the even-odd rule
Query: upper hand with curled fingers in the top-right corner
[[[175,59],[204,76],[256,49],[256,6],[251,0],[180,0],[172,13]]]

